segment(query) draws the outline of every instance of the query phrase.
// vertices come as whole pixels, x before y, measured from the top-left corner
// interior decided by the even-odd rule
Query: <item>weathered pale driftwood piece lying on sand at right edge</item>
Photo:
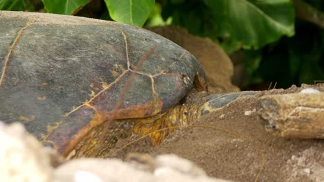
[[[261,97],[258,118],[266,129],[287,138],[324,139],[324,93]]]

